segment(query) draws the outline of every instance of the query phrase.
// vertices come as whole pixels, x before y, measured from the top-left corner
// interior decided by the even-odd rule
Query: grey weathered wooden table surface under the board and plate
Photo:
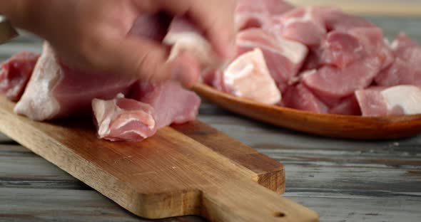
[[[421,42],[421,18],[368,17],[387,36],[405,30]],[[0,46],[0,60],[40,41]],[[362,142],[271,127],[203,103],[199,119],[285,165],[284,196],[321,221],[421,221],[421,135]],[[0,221],[148,221],[0,134]],[[198,222],[187,216],[160,221]]]

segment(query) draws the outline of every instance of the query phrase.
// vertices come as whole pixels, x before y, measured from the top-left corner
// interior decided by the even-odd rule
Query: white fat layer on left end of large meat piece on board
[[[41,57],[14,112],[39,121],[50,120],[58,115],[61,107],[51,92],[63,75],[53,49],[45,42]]]

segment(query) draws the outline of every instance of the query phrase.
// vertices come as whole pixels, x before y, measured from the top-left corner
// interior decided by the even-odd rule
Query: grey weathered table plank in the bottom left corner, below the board
[[[133,216],[96,191],[0,187],[0,221],[150,221]],[[157,222],[199,222],[187,216]]]

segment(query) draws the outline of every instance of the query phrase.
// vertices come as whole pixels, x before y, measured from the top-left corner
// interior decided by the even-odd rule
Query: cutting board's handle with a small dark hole
[[[213,222],[319,221],[314,211],[253,181],[209,188],[202,201],[202,216]]]

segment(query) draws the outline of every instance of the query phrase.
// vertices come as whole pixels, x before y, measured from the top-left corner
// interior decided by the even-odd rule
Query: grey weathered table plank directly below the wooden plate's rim
[[[235,115],[201,115],[199,119],[216,129],[227,133],[230,137],[257,149],[299,148],[299,149],[356,149],[362,152],[375,152],[372,149],[405,150],[405,152],[421,152],[421,135],[410,139],[393,139],[384,141],[361,141],[346,139],[330,139],[315,137]],[[375,153],[373,153],[374,155]],[[417,155],[415,153],[415,155]],[[419,156],[418,156],[419,157]]]

